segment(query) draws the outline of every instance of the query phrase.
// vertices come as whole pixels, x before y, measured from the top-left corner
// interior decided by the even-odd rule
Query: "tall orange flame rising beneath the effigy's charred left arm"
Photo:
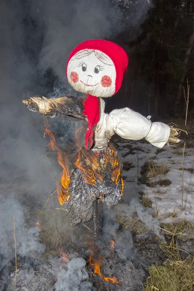
[[[57,184],[57,194],[59,198],[59,203],[63,205],[65,201],[68,201],[70,198],[69,184],[71,180],[69,176],[68,159],[65,152],[58,147],[52,131],[48,129],[48,125],[45,129],[44,137],[46,137],[46,135],[49,136],[49,140],[50,140],[48,147],[52,150],[57,151],[58,162],[63,168],[63,171],[61,173],[61,189],[59,188],[59,185]]]

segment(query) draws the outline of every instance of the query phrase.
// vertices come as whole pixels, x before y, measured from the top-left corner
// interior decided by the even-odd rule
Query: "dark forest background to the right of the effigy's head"
[[[152,3],[144,23],[137,30],[131,28],[125,42],[130,63],[122,105],[154,118],[182,117],[186,107],[183,86],[186,90],[188,80],[192,116],[194,0]]]

